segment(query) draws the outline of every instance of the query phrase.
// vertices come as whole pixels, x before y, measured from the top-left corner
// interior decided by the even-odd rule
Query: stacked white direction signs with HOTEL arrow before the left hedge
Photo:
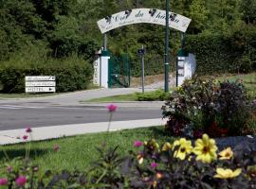
[[[26,93],[55,93],[56,81],[54,76],[25,77]]]

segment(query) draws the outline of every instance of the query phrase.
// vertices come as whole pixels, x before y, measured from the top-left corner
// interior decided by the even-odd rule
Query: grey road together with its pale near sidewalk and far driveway
[[[145,91],[155,90],[146,87]],[[45,140],[82,133],[105,131],[109,103],[81,103],[81,100],[140,92],[139,88],[98,89],[54,96],[0,99],[0,145],[22,142],[17,136],[27,126],[33,128],[33,140]],[[111,130],[164,125],[163,102],[115,103]]]

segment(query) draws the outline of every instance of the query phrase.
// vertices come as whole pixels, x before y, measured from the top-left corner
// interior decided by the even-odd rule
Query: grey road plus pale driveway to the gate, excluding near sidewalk
[[[108,121],[107,103],[81,103],[103,96],[132,94],[139,88],[97,89],[53,96],[0,100],[0,130]],[[146,91],[155,90],[147,87]],[[113,121],[161,118],[163,102],[117,103]]]

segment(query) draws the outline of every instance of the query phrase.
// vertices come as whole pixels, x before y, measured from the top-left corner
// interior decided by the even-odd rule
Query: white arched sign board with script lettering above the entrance
[[[186,32],[191,19],[180,14],[170,12],[169,26],[182,32]],[[101,33],[106,33],[119,26],[127,26],[139,23],[166,25],[166,11],[161,9],[129,9],[107,16],[97,22]]]

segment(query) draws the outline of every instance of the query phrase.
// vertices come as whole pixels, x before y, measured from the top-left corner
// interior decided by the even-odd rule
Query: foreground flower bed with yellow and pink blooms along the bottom
[[[111,113],[116,109],[108,107]],[[7,162],[1,164],[0,188],[255,188],[256,139],[242,141],[233,150],[218,150],[219,140],[223,139],[216,143],[204,134],[194,142],[185,138],[161,145],[155,139],[135,141],[135,150],[125,156],[106,141],[98,148],[99,159],[87,170],[45,174],[29,160],[27,142],[25,159],[8,160],[7,155]],[[54,149],[61,150],[60,146]]]

